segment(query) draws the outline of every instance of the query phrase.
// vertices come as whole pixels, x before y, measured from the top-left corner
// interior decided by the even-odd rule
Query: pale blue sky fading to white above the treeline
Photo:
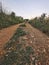
[[[14,11],[17,16],[34,18],[42,13],[49,15],[49,0],[0,0],[8,11]]]

